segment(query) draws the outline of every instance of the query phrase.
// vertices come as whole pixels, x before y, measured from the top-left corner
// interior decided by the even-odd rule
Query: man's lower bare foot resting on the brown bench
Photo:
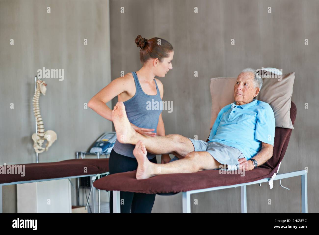
[[[133,154],[137,160],[138,166],[137,166],[137,172],[136,172],[136,178],[137,179],[147,179],[152,177],[151,174],[151,164],[152,162],[150,162],[147,157],[147,151],[145,148],[145,145],[143,144],[143,142],[141,140],[139,140],[136,145],[135,148],[133,150]]]

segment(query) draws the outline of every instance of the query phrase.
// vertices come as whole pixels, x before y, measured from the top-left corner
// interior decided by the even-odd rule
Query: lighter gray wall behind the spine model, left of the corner
[[[73,159],[112,131],[111,122],[84,108],[111,81],[108,7],[106,0],[0,1],[0,164],[35,162],[32,98],[42,67],[64,69],[64,80],[43,79],[48,85],[40,111],[57,140],[39,154],[40,162]],[[4,186],[4,212],[16,212],[15,190]]]

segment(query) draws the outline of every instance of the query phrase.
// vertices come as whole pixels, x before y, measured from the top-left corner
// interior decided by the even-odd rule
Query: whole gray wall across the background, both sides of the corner
[[[173,101],[173,112],[163,112],[167,134],[208,137],[211,77],[237,76],[245,67],[295,72],[292,100],[297,118],[279,172],[309,168],[308,211],[318,212],[318,12],[315,0],[111,0],[109,10],[105,0],[1,0],[0,164],[35,161],[32,98],[38,69],[64,69],[63,81],[44,79],[48,90],[40,98],[41,115],[45,129],[57,133],[57,141],[40,154],[40,162],[71,159],[75,151],[87,150],[102,132],[112,129],[110,122],[84,109],[84,103],[111,77],[141,67],[134,43],[137,35],[158,36],[174,46],[173,70],[160,78],[163,100]],[[85,38],[88,45],[83,44]],[[306,38],[309,45],[304,44]],[[271,190],[267,183],[248,186],[248,212],[301,212],[300,177],[282,183],[290,190],[278,181]],[[4,212],[16,212],[15,190],[15,185],[4,186]],[[240,188],[191,198],[198,200],[192,212],[240,212]],[[152,212],[181,211],[181,194],[156,196]]]

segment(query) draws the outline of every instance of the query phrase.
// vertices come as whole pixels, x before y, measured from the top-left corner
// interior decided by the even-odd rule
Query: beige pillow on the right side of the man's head
[[[275,114],[276,127],[293,129],[290,106],[294,80],[294,72],[283,74],[282,78],[263,78],[263,86],[257,99],[271,106]]]

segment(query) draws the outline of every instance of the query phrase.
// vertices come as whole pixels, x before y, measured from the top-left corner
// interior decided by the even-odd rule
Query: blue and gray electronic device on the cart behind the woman
[[[106,153],[110,154],[116,140],[116,132],[106,132],[98,138],[90,153]]]

